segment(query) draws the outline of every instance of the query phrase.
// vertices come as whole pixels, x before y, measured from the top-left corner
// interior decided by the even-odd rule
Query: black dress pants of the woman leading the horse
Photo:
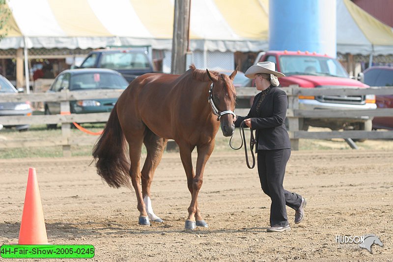
[[[284,180],[286,163],[291,149],[258,150],[258,174],[263,192],[270,197],[270,226],[288,225],[285,205],[297,210],[302,204],[302,196],[286,191]]]

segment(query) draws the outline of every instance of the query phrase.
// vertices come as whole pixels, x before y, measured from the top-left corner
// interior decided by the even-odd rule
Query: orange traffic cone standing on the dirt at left
[[[21,229],[19,231],[20,245],[48,244],[44,213],[42,211],[40,191],[38,189],[35,168],[28,169],[28,185],[26,187],[25,204],[23,205]]]

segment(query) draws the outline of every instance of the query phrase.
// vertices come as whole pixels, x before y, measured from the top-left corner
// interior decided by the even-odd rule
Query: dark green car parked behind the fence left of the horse
[[[61,72],[49,88],[48,92],[88,91],[103,89],[125,89],[128,82],[124,77],[111,69],[89,68],[71,69]],[[117,98],[86,99],[70,101],[71,114],[111,112]],[[60,102],[45,102],[45,115],[60,114]],[[49,124],[48,128],[56,128]]]

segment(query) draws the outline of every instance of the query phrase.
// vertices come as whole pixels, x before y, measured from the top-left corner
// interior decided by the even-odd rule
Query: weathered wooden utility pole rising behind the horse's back
[[[175,0],[172,38],[172,74],[183,74],[186,71],[186,54],[189,51],[191,0]]]

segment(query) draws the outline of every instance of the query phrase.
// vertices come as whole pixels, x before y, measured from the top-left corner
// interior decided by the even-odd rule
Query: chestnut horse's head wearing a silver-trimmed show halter
[[[221,121],[221,130],[225,137],[230,137],[235,132],[235,123],[233,121],[236,104],[236,89],[233,86],[233,79],[236,76],[237,68],[230,76],[225,74],[206,73],[213,82],[209,91],[209,102],[217,120]]]

